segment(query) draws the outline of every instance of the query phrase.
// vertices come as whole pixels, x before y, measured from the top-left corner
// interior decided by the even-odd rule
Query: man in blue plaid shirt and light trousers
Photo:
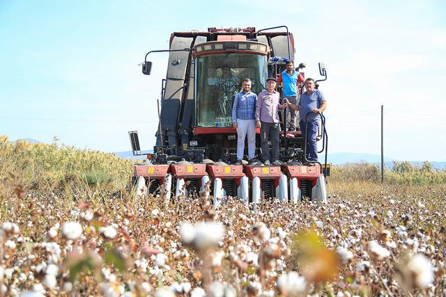
[[[236,95],[232,108],[232,126],[237,129],[237,165],[242,164],[245,152],[245,138],[248,138],[248,162],[253,163],[256,151],[257,95],[251,92],[251,79],[243,79],[243,90]]]

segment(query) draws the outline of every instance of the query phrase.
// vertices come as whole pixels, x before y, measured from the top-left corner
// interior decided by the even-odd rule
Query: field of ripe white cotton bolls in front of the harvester
[[[442,188],[338,190],[327,204],[210,199],[3,195],[1,294],[446,296]]]

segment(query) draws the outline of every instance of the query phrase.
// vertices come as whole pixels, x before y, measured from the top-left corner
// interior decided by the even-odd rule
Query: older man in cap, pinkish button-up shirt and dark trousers
[[[259,93],[256,102],[256,126],[260,128],[262,147],[262,159],[266,166],[282,164],[279,161],[279,109],[285,109],[280,104],[279,92],[275,90],[277,80],[270,77],[266,80],[267,89]],[[270,161],[270,150],[268,148],[268,137],[271,138],[272,158]]]

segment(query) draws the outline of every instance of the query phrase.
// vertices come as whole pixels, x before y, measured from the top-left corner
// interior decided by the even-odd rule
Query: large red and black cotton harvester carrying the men
[[[282,31],[274,31],[279,28]],[[162,191],[170,198],[171,193],[198,193],[209,185],[215,206],[226,196],[254,203],[261,197],[297,202],[306,196],[326,201],[326,167],[307,161],[300,131],[285,128],[281,132],[282,166],[236,165],[233,99],[243,79],[251,79],[252,92],[260,93],[266,79],[277,77],[286,69],[286,61],[294,59],[293,35],[286,26],[172,33],[169,49],[146,54],[142,64],[146,75],[152,67],[147,57],[155,52],[169,52],[169,64],[162,80],[156,145],[143,163],[134,166],[132,182],[138,195]],[[319,72],[324,77],[319,81],[325,80],[321,63]],[[321,118],[318,137],[326,164],[328,137],[325,118]],[[282,124],[286,124],[286,113]],[[129,136],[133,154],[142,154],[137,131],[130,131]],[[257,138],[256,155],[260,156],[259,130]]]

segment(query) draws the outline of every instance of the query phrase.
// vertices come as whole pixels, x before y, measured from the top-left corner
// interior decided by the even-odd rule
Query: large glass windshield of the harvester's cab
[[[251,91],[266,86],[266,56],[256,54],[210,54],[197,61],[197,122],[199,127],[231,127],[234,97],[243,79],[251,79]]]

